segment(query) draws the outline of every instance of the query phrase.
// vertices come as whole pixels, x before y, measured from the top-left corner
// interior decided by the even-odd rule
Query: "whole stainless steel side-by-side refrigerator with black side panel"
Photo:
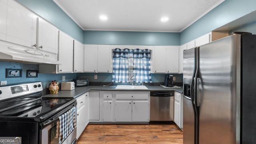
[[[256,35],[183,54],[183,143],[256,144]]]

